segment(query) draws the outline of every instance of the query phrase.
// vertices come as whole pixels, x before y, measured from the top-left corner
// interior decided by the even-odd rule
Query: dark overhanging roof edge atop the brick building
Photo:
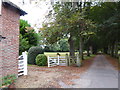
[[[9,0],[3,0],[2,3],[3,3],[4,5],[11,6],[11,7],[17,9],[17,10],[19,11],[19,13],[20,13],[20,16],[27,14],[24,10],[22,10],[20,7],[18,7],[16,4],[12,3],[12,2],[9,1]]]

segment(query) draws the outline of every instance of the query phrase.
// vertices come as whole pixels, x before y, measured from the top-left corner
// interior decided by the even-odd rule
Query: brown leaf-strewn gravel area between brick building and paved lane
[[[39,67],[28,66],[28,75],[20,76],[16,83],[16,88],[61,88],[59,82],[73,85],[73,79],[80,78],[80,74],[85,72],[92,64],[93,59],[84,60],[82,67],[56,66]]]

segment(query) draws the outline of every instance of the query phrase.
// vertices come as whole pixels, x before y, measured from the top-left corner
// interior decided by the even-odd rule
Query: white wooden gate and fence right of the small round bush
[[[50,57],[48,56],[48,67],[53,66],[67,66],[67,59],[65,56],[56,56],[56,57]]]

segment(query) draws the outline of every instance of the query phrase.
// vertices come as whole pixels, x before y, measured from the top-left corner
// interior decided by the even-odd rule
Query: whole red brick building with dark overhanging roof
[[[9,0],[0,0],[0,77],[18,74],[19,19],[25,14]]]

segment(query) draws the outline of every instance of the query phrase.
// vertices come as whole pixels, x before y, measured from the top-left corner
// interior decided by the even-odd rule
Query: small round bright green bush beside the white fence
[[[45,66],[45,65],[47,65],[47,56],[44,55],[44,54],[39,54],[36,57],[36,64],[38,66]]]

